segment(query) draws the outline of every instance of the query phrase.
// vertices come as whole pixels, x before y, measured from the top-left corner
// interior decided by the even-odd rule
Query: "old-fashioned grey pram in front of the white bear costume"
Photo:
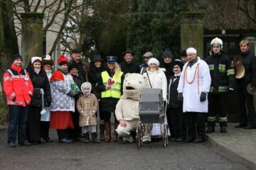
[[[168,145],[168,125],[164,125],[166,102],[163,101],[161,89],[143,89],[139,101],[139,123],[137,125],[137,147],[142,146],[146,123],[161,124],[161,138],[163,145]]]

